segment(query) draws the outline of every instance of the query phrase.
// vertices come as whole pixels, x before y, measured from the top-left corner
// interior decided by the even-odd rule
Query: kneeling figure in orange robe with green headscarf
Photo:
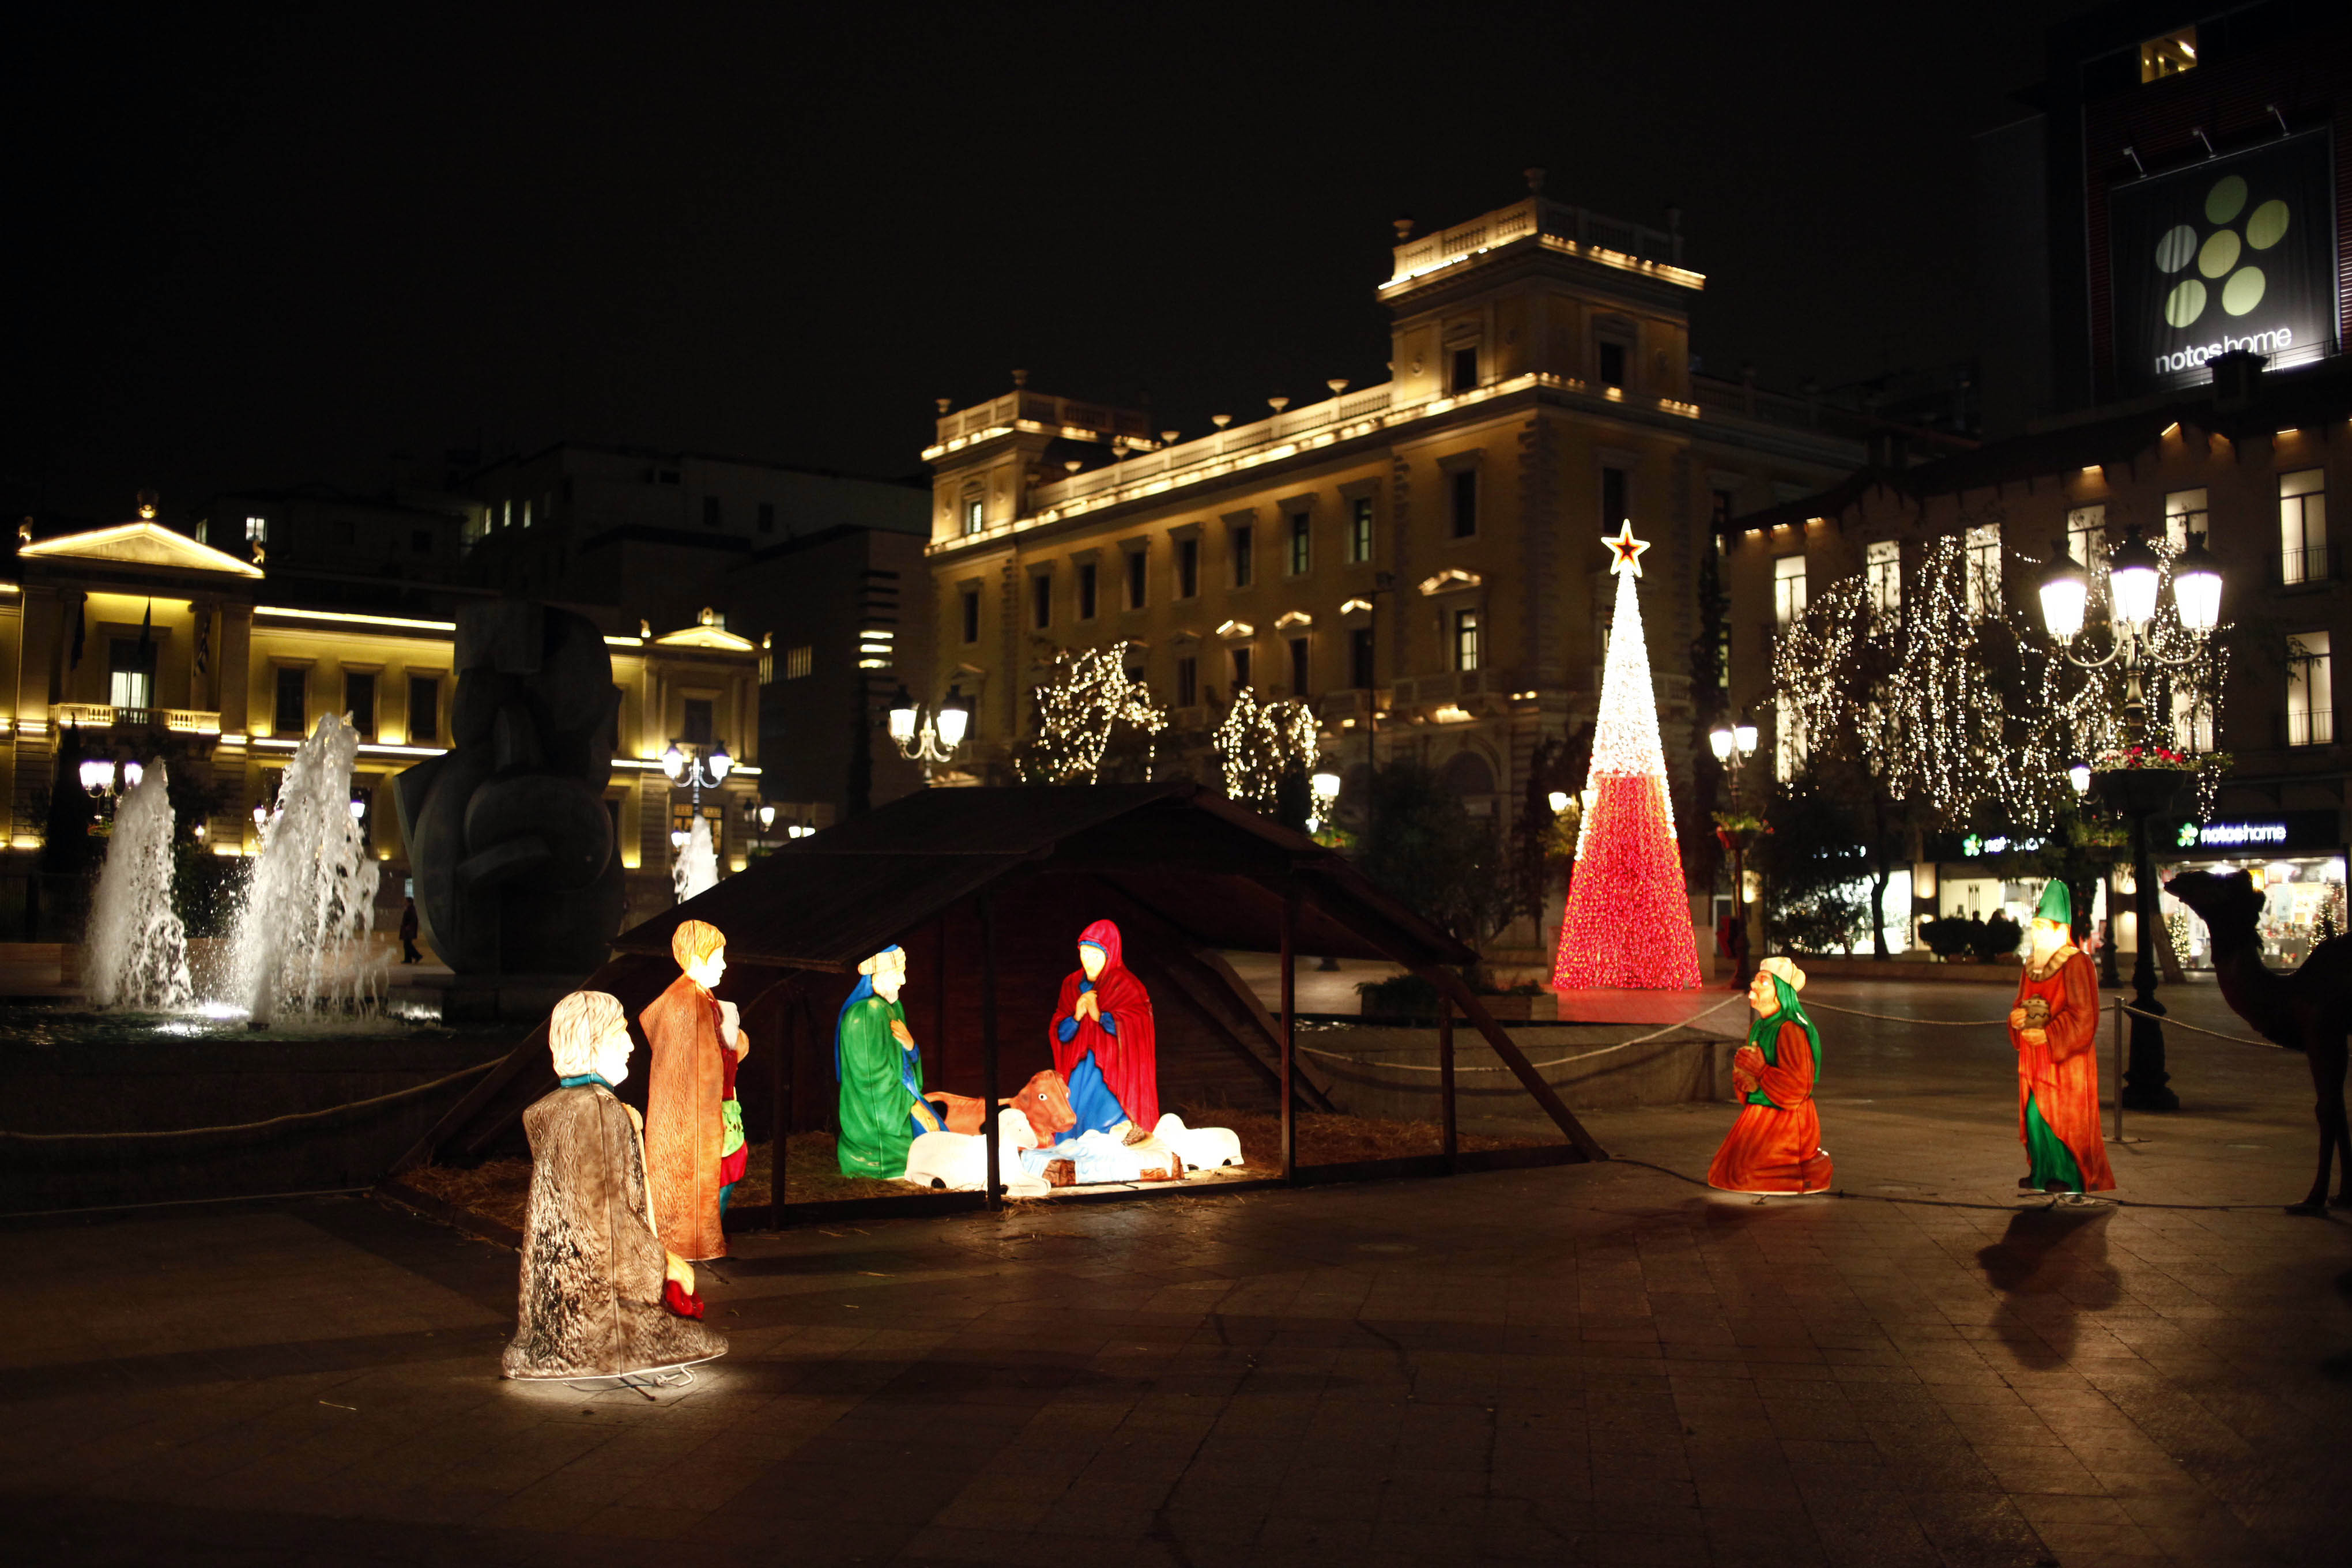
[[[1724,1192],[1828,1192],[1830,1152],[1820,1147],[1813,1074],[1820,1032],[1797,1006],[1804,971],[1783,957],[1757,964],[1748,987],[1755,1025],[1731,1058],[1731,1088],[1740,1117],[1708,1166],[1708,1185]]]

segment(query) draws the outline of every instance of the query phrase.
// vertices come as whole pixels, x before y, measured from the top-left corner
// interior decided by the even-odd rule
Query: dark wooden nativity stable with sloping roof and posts
[[[1294,976],[1303,952],[1402,964],[1449,1001],[1439,1025],[1446,1161],[1456,1157],[1456,1009],[1559,1126],[1571,1157],[1606,1159],[1454,971],[1472,959],[1468,947],[1338,853],[1192,783],[910,795],[795,839],[623,931],[614,959],[583,990],[616,994],[635,1018],[677,978],[670,933],[689,917],[727,933],[717,994],[741,1006],[753,1039],[739,1095],[746,1126],[769,1126],[776,1138],[771,1218],[786,1206],[783,1140],[823,1128],[833,1114],[833,1020],[858,961],[906,947],[906,1011],[924,1053],[924,1084],[995,1103],[1051,1065],[1056,990],[1091,919],[1120,924],[1127,964],[1152,992],[1162,1079],[1167,1041],[1190,1030],[1277,1095],[1284,1180],[1296,1178],[1298,1105],[1327,1107],[1296,1053]],[[1282,954],[1279,1016],[1232,976],[1225,950]],[[642,1060],[621,1088],[640,1103]],[[395,1175],[445,1152],[485,1154],[550,1088],[541,1025],[402,1157]],[[995,1150],[990,1138],[988,1204],[1002,1190]]]

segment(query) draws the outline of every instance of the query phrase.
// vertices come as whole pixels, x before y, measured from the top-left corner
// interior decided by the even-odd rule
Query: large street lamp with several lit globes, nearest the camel
[[[2098,658],[2074,651],[2082,635],[2084,614],[2091,604],[2091,578],[2067,555],[2065,541],[2053,541],[2051,567],[2042,574],[2042,623],[2058,642],[2058,654],[2079,670],[2117,668],[2124,675],[2124,733],[2138,743],[2147,733],[2147,672],[2183,670],[2197,663],[2201,649],[2164,651],[2157,646],[2157,592],[2161,588],[2161,562],[2129,529],[2107,557],[2107,651]],[[2211,637],[2220,623],[2220,569],[2206,550],[2204,534],[2192,534],[2187,550],[2173,569],[2173,607],[2180,611],[2180,628],[2192,637]],[[2072,778],[2070,769],[2070,778]],[[2089,773],[2089,771],[2086,771]],[[2166,1084],[2164,1067],[2164,1004],[2157,1001],[2157,933],[2161,912],[2157,907],[2157,872],[2147,858],[2147,820],[2164,811],[2180,790],[2178,769],[2107,769],[2098,778],[2098,795],[2112,811],[2131,818],[2131,889],[2138,936],[2131,961],[2131,1065],[2117,1086],[2117,1098],[2131,1110],[2180,1110],[2180,1095]],[[2082,788],[2077,783],[2077,788]]]

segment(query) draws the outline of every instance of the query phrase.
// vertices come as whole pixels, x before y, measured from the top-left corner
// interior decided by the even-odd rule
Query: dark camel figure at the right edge
[[[2312,1194],[2286,1213],[2321,1213],[2328,1206],[2328,1164],[2343,1157],[2336,1208],[2352,1208],[2352,1133],[2345,1128],[2345,1030],[2352,1030],[2352,936],[2333,936],[2293,973],[2263,964],[2256,922],[2263,896],[2246,872],[2180,872],[2164,891],[2197,910],[2213,933],[2213,976],[2223,1001],[2274,1046],[2303,1051],[2312,1067],[2319,1114],[2319,1175]]]

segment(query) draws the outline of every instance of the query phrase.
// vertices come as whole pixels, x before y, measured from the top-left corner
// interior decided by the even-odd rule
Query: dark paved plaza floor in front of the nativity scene
[[[1710,1194],[1691,1105],[1595,1114],[1604,1166],[748,1237],[652,1399],[501,1382],[513,1253],[376,1199],[19,1220],[9,1556],[2352,1561],[2303,1060],[2176,1032],[2126,1201],[2018,1206],[2006,1037],[1828,1011],[2006,992],[1806,999],[1842,1197]]]

